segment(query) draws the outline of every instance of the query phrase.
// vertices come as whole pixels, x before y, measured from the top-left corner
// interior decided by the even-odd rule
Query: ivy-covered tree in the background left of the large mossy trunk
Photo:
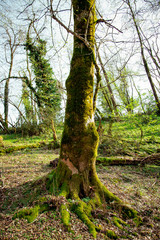
[[[57,81],[53,78],[52,68],[46,59],[46,41],[40,38],[33,41],[28,31],[25,48],[35,75],[35,87],[28,78],[26,78],[26,84],[35,95],[39,121],[47,127],[52,124],[54,138],[56,138],[53,118],[56,111],[60,109],[61,97]]]

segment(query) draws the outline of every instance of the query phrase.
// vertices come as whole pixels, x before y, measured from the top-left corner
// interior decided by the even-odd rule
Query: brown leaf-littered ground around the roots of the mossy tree
[[[28,223],[25,219],[13,220],[13,214],[28,207],[37,193],[31,183],[51,171],[49,163],[59,155],[59,149],[28,149],[0,156],[0,239],[93,239],[88,229],[76,215],[71,214],[74,232],[67,232],[58,211],[44,212]],[[123,201],[132,204],[143,219],[139,227],[132,226],[130,236],[123,239],[160,239],[160,166],[97,166],[98,176],[107,188]],[[44,190],[43,194],[47,194]],[[110,212],[109,214],[114,214]],[[109,217],[109,215],[107,216]],[[110,226],[104,220],[96,219],[95,224],[116,233],[122,230]],[[128,222],[129,223],[129,222]],[[125,236],[125,233],[123,234]],[[104,238],[101,232],[97,239]],[[119,237],[118,239],[122,239]]]

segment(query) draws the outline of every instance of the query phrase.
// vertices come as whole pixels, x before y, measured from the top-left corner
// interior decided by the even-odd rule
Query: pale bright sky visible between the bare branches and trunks
[[[47,10],[47,0],[35,0],[32,6],[26,8],[26,3],[31,2],[32,1],[28,0],[6,0],[0,2],[0,81],[8,76],[9,71],[9,64],[6,63],[6,58],[9,60],[10,50],[8,49],[8,37],[5,33],[5,28],[10,29],[11,26],[15,33],[21,31],[21,46],[18,47],[15,52],[12,70],[12,76],[19,76],[23,71],[26,71],[26,55],[23,43],[28,28],[28,19],[31,19],[33,14],[35,14],[36,18],[39,19],[39,21],[35,23],[35,26],[37,31],[43,29],[40,35],[47,41],[47,57],[51,63],[55,77],[65,88],[65,80],[67,79],[70,69],[69,64],[72,56],[73,38],[55,21],[52,21],[51,25],[51,18]],[[141,0],[138,0],[138,7],[141,7],[140,2]],[[53,3],[55,10],[59,11],[59,19],[67,26],[70,24],[70,28],[73,29],[73,21],[69,11],[71,8],[70,1],[55,0]],[[58,3],[60,4],[57,8]],[[99,24],[96,31],[96,40],[100,46],[100,54],[106,70],[112,72],[116,78],[118,76],[117,69],[120,69],[124,65],[126,59],[129,59],[129,55],[132,53],[133,56],[129,59],[127,67],[134,73],[134,80],[137,87],[141,89],[142,93],[147,93],[150,86],[144,74],[139,53],[139,43],[136,42],[135,30],[132,27],[132,22],[129,20],[129,15],[124,14],[127,12],[126,5],[122,4],[121,0],[97,0],[97,9],[103,18],[112,25],[108,27],[105,24]],[[149,17],[146,14],[147,21],[143,20],[145,14],[146,13],[142,11],[142,14],[139,14],[138,21],[145,30],[147,37],[150,36],[150,42],[153,43],[155,36],[150,28],[152,22],[158,22],[159,13],[152,13]],[[98,18],[100,18],[100,16],[98,16]],[[117,29],[119,29],[119,31]],[[32,36],[34,37],[35,34],[32,34]],[[159,38],[159,36],[157,37]],[[135,44],[133,44],[134,42]],[[159,42],[160,41],[158,41],[158,44]],[[3,95],[3,88],[4,81],[0,83],[1,96]],[[10,81],[10,99],[17,106],[20,102],[20,96],[21,81],[19,79],[12,79]],[[63,102],[62,107],[64,108],[64,106],[65,103]],[[18,117],[18,112],[11,105],[9,109],[11,116],[10,121],[14,122]],[[3,115],[3,99],[1,99],[0,113]]]

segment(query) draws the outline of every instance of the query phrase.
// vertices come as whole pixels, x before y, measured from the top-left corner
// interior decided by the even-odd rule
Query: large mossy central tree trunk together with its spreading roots
[[[68,229],[71,227],[69,212],[74,211],[96,238],[97,231],[101,230],[91,220],[92,210],[96,207],[112,202],[118,214],[123,212],[125,216],[134,218],[137,212],[108,191],[96,173],[98,133],[93,103],[95,0],[73,0],[72,4],[76,34],[70,74],[66,81],[67,106],[60,159],[57,168],[46,177],[47,188],[57,196],[51,195],[51,200],[45,200],[45,204],[40,201],[29,213],[22,210],[15,217],[32,221],[39,213],[50,209],[51,205],[57,206],[58,201],[62,222]],[[77,34],[80,38],[76,37]],[[122,220],[118,221],[122,223]],[[106,230],[106,234],[115,235],[111,230]]]

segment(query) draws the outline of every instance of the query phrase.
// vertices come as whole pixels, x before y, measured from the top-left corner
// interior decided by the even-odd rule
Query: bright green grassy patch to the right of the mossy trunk
[[[160,116],[136,116],[112,124],[102,122],[99,153],[105,155],[147,155],[160,149]]]

